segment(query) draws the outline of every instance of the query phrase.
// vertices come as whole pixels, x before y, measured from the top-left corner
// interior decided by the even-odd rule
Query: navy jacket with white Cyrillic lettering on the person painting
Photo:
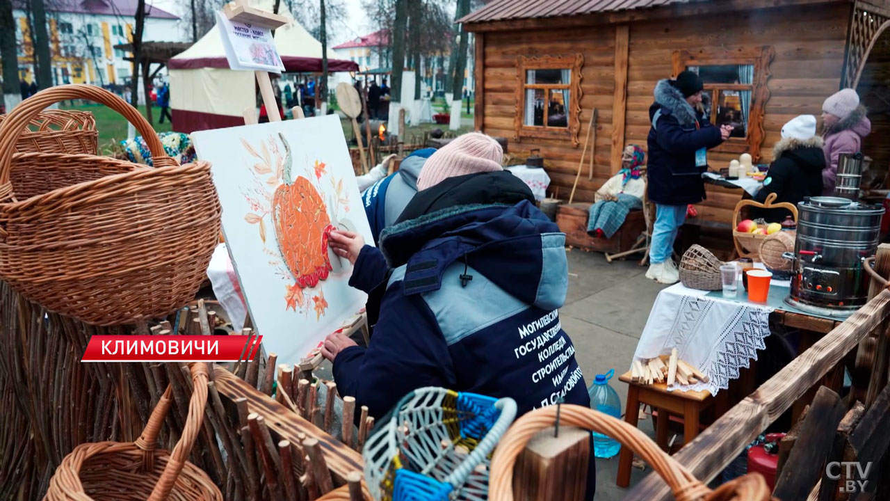
[[[435,191],[412,204],[443,200]],[[387,228],[381,241],[382,251],[361,250],[352,272],[353,287],[387,288],[368,349],[334,360],[342,394],[375,417],[424,386],[511,397],[521,414],[561,397],[589,406],[557,311],[568,287],[565,235],[530,201],[435,210]]]

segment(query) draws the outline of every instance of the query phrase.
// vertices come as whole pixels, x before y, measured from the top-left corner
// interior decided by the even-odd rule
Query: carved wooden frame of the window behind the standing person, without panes
[[[767,86],[770,73],[770,64],[775,57],[773,45],[756,47],[724,47],[719,51],[674,51],[671,57],[674,77],[690,66],[725,66],[750,64],[754,66],[754,78],[752,79],[751,104],[748,110],[748,123],[746,124],[745,137],[730,137],[723,144],[716,146],[712,152],[724,153],[750,153],[752,160],[760,160],[760,150],[766,136],[764,131],[764,115],[766,102],[770,99],[770,89]],[[744,88],[741,88],[744,87]],[[705,84],[705,91],[711,92],[711,119],[716,123],[716,110],[718,108],[716,95],[720,90],[748,90],[747,84]]]

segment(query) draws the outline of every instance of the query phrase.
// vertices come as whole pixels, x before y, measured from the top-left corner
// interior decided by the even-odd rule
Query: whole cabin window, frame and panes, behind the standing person
[[[675,75],[692,70],[704,83],[703,104],[711,123],[732,126],[729,139],[713,151],[748,152],[759,160],[765,136],[765,105],[770,98],[767,80],[774,55],[771,45],[673,54]]]

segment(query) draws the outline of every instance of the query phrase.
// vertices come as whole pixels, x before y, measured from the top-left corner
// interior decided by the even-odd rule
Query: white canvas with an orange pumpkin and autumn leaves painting
[[[328,248],[344,229],[373,244],[336,115],[195,132],[213,164],[223,233],[265,349],[299,362],[351,318],[367,295]]]

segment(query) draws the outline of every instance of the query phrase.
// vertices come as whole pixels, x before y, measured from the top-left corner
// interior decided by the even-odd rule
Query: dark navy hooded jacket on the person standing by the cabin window
[[[720,129],[697,116],[683,93],[670,80],[655,86],[655,103],[649,108],[648,177],[649,200],[664,205],[687,205],[705,199],[695,152],[723,143]]]

